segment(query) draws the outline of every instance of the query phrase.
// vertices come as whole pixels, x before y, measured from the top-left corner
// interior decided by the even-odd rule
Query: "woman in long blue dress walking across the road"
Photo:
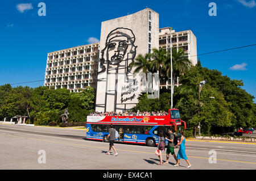
[[[178,166],[179,166],[179,163],[180,163],[180,158],[182,158],[182,159],[185,159],[185,161],[188,163],[187,168],[190,168],[190,167],[191,167],[191,164],[189,163],[188,158],[187,158],[187,155],[186,155],[186,153],[185,153],[185,140],[186,140],[186,138],[185,138],[185,135],[184,135],[184,132],[183,132],[183,131],[180,131],[180,134],[181,134],[180,142],[179,142],[179,144],[177,144],[177,145],[174,147],[174,148],[177,148],[177,146],[180,145],[179,152],[177,153],[177,163],[176,163],[176,165],[174,165],[174,166],[178,167]]]

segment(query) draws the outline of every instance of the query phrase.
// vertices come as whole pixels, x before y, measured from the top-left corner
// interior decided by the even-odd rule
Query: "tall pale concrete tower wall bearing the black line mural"
[[[149,11],[151,11],[151,32],[148,30],[150,22]],[[131,15],[102,22],[96,111],[114,111],[116,102],[116,111],[121,112],[134,107],[135,103],[138,102],[137,98],[141,93],[140,82],[138,80],[138,85],[131,85],[129,91],[126,87],[130,83],[125,82],[125,74],[130,81],[134,79],[131,77],[133,74],[127,71],[127,67],[131,62],[135,61],[138,54],[144,55],[148,53],[149,32],[151,33],[151,49],[158,48],[159,14],[148,8]],[[123,43],[120,44],[121,42],[124,42],[125,45]],[[110,44],[111,46],[115,45],[109,47]],[[121,50],[119,52],[121,58],[117,58],[118,49]],[[114,51],[116,52],[114,53]],[[104,69],[106,70],[104,71]],[[116,75],[117,72],[118,75]],[[123,75],[119,75],[120,73]],[[115,86],[117,87],[117,92],[115,92]],[[137,89],[137,91],[133,91],[133,89]],[[130,94],[128,94],[129,92]],[[126,103],[126,107],[124,103]]]

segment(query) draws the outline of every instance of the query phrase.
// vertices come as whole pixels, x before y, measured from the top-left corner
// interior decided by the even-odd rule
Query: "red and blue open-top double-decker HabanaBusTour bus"
[[[166,116],[87,116],[86,138],[108,142],[110,124],[119,132],[115,141],[134,144],[158,145],[158,133],[167,133],[168,128],[177,131],[181,123],[177,109],[171,109]]]

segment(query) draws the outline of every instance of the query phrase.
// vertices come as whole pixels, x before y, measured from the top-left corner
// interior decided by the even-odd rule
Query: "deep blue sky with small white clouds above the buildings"
[[[46,16],[39,16],[39,2]],[[209,3],[217,16],[209,16]],[[100,40],[101,22],[150,7],[159,13],[159,27],[191,28],[197,54],[256,44],[255,0],[49,1],[2,0],[0,6],[0,85],[44,79],[47,53]],[[200,56],[256,97],[256,46]],[[22,86],[37,87],[42,82]],[[16,85],[14,85],[16,86]],[[254,99],[255,100],[255,99]]]

